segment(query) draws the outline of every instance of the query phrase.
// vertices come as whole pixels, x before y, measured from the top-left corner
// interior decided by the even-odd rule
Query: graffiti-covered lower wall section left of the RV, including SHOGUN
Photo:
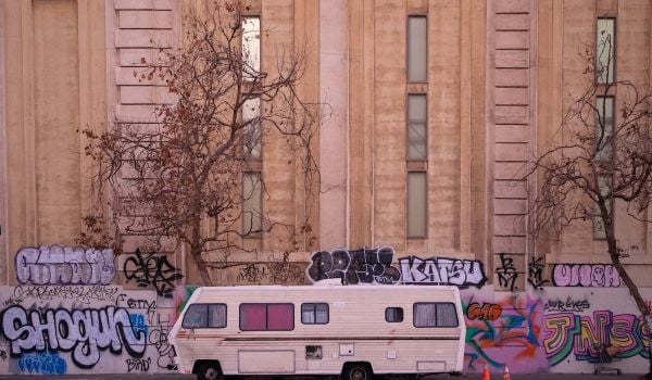
[[[183,275],[139,251],[122,270],[136,289],[116,284],[118,271],[111,250],[18,250],[16,286],[0,287],[0,373],[170,371]]]

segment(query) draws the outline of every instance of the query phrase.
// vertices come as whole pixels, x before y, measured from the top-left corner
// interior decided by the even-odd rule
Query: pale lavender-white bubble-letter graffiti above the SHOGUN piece
[[[23,248],[16,276],[32,284],[109,284],[115,278],[112,250],[62,245]]]

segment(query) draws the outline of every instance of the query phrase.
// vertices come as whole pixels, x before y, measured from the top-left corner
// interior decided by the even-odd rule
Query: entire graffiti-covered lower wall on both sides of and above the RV
[[[647,372],[649,338],[612,265],[547,266],[534,258],[524,273],[512,257],[497,257],[490,283],[480,261],[397,256],[388,246],[314,252],[306,264],[286,253],[242,262],[229,284],[340,278],[348,284],[456,286],[466,372],[509,366],[512,372],[588,373],[607,349],[610,366]],[[181,283],[185,274],[173,262],[140,251],[115,257],[111,250],[61,245],[18,250],[16,284],[0,287],[0,373],[174,370],[167,334],[197,287]],[[642,293],[652,302],[652,289]]]

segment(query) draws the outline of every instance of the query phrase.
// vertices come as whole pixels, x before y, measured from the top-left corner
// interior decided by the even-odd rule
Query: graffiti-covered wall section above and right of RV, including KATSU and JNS
[[[493,283],[480,261],[405,255],[393,249],[319,251],[306,278],[349,284],[449,284],[461,289],[466,322],[465,371],[593,372],[602,359],[623,372],[647,372],[648,335],[610,264],[555,264],[534,257],[525,270],[497,254]],[[521,277],[523,276],[523,277]],[[526,283],[518,289],[516,283]],[[652,289],[642,289],[652,300]],[[605,358],[609,349],[614,357]],[[600,356],[600,353],[603,356]]]

